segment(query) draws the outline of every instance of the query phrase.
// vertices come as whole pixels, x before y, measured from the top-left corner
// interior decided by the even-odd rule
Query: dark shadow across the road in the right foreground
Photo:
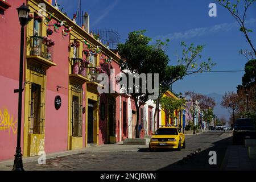
[[[159,171],[183,171],[183,170],[220,170],[222,160],[224,159],[226,148],[228,145],[232,144],[232,137],[218,140],[212,143],[213,146],[207,148],[207,150],[200,151],[197,154],[188,155],[186,158],[179,160],[176,163],[170,164],[166,167],[158,169]],[[217,164],[209,164],[209,151],[216,151],[217,154]]]

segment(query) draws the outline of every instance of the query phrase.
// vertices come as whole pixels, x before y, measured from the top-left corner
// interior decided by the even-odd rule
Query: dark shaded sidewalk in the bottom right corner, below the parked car
[[[248,148],[243,145],[228,146],[221,170],[245,171],[256,170],[256,160],[249,159]]]

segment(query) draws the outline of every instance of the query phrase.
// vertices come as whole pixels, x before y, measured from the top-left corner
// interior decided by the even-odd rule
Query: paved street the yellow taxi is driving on
[[[229,131],[209,131],[199,135],[186,135],[187,147],[181,151],[161,150],[150,152],[148,146],[114,145],[90,147],[84,154],[47,159],[45,165],[37,162],[24,164],[26,170],[218,170],[228,144]],[[113,145],[112,145],[113,146]],[[98,150],[101,148],[101,150]],[[201,151],[188,160],[182,160],[191,152]],[[217,152],[217,165],[209,165],[209,151]]]

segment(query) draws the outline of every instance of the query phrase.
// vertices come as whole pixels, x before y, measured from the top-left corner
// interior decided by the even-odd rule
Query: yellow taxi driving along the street
[[[161,126],[153,133],[149,148],[153,152],[159,148],[185,148],[185,135],[177,126]]]

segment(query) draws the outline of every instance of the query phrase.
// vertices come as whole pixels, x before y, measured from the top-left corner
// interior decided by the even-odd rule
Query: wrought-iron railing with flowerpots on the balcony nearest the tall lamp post
[[[53,46],[55,42],[47,37],[30,37],[30,55],[41,56],[47,60],[53,61]]]

